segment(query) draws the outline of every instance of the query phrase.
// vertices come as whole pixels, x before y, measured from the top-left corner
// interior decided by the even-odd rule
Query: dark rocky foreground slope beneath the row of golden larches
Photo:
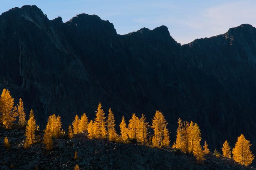
[[[43,139],[43,132],[36,131]],[[150,148],[136,144],[118,144],[91,140],[81,134],[71,140],[67,136],[53,140],[53,150],[47,151],[42,142],[24,150],[24,130],[0,127],[0,141],[9,138],[11,149],[0,147],[0,169],[255,169],[237,164],[231,159],[209,154],[198,164],[192,155],[172,148]],[[74,159],[78,152],[79,159]]]

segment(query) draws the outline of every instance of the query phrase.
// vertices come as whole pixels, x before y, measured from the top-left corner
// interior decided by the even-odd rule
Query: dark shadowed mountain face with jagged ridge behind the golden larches
[[[43,128],[50,114],[63,127],[75,114],[94,118],[97,104],[116,122],[161,110],[176,135],[177,120],[197,122],[210,149],[243,133],[256,153],[256,28],[178,44],[166,26],[118,35],[112,23],[80,14],[63,23],[36,6],[0,16],[0,90],[22,98]]]

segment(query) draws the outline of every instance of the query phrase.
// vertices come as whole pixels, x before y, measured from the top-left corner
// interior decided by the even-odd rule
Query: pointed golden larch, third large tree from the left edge
[[[35,131],[36,131],[36,120],[34,116],[34,112],[31,109],[28,119],[28,125],[26,126],[25,136],[28,139],[29,144],[33,144],[35,142]]]

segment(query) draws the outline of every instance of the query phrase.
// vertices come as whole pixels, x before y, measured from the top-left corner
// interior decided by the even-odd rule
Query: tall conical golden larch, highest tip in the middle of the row
[[[94,124],[95,124],[94,134],[96,138],[103,139],[107,135],[107,130],[106,130],[105,113],[101,107],[102,107],[101,103],[99,103],[96,111],[96,118],[94,119]]]

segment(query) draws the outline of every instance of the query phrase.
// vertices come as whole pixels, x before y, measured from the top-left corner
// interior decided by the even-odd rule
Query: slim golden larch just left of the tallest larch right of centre
[[[146,144],[148,140],[148,122],[146,122],[146,117],[144,114],[141,114],[140,120],[139,120],[139,138],[138,140],[142,142],[142,144]]]

